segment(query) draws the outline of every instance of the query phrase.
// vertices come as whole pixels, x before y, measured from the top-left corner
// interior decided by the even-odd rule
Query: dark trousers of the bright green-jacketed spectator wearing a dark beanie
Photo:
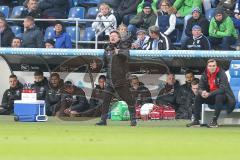
[[[237,39],[231,36],[223,38],[208,37],[211,45],[216,47],[220,46],[222,50],[230,50],[230,46],[235,44]]]

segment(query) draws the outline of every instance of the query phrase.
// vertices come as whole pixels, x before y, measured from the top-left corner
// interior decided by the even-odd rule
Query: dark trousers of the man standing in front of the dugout
[[[116,97],[120,100],[123,100],[128,105],[128,110],[130,112],[130,118],[135,118],[135,108],[134,108],[134,99],[130,92],[128,84],[121,85],[118,87],[113,87],[107,85],[103,92],[103,104],[102,104],[102,114],[101,119],[106,120],[107,114],[109,112],[109,106],[113,97]]]

